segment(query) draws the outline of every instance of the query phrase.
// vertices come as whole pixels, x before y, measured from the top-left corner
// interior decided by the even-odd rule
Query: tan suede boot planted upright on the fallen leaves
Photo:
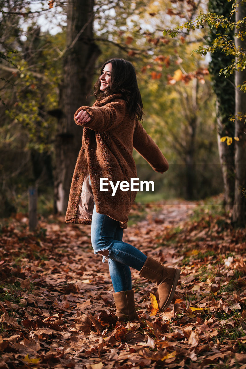
[[[120,322],[138,320],[133,290],[115,292],[113,298],[116,306],[115,315]]]

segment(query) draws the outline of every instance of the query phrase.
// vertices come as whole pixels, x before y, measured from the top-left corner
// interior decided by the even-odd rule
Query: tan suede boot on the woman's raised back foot
[[[180,269],[166,268],[160,262],[148,256],[139,275],[155,283],[159,294],[159,309],[165,310],[171,303],[175,293]]]

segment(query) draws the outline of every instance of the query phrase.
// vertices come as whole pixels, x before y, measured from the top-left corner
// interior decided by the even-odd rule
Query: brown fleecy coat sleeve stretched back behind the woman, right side
[[[168,170],[169,165],[165,156],[138,121],[133,134],[133,147],[156,172],[163,173]]]

